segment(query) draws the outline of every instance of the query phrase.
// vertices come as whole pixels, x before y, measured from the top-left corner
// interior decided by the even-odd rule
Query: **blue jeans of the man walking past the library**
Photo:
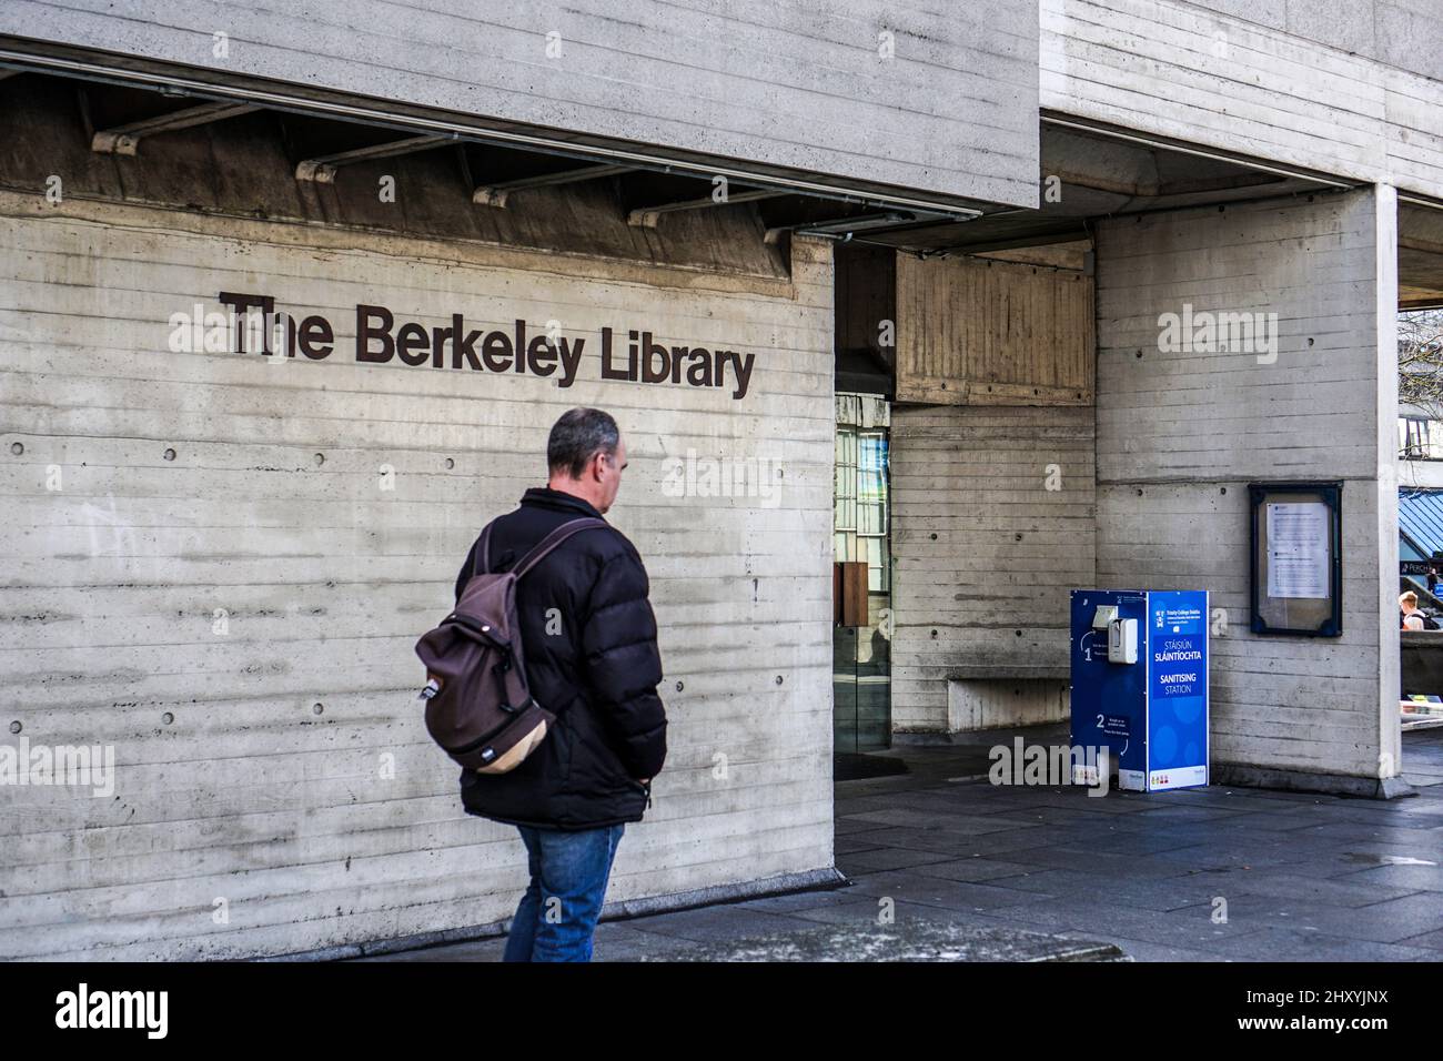
[[[502,961],[590,961],[592,933],[625,823],[563,830],[517,826],[527,844],[527,886]]]

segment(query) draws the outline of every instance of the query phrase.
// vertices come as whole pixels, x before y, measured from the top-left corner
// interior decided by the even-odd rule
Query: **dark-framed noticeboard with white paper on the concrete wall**
[[[1253,632],[1341,637],[1342,482],[1254,482]]]

